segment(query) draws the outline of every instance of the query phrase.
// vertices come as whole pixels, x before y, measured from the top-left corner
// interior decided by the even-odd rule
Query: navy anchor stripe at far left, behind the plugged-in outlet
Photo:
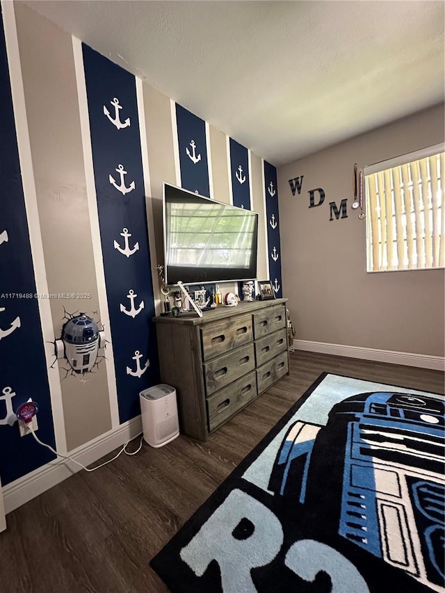
[[[0,104],[0,476],[4,486],[55,457],[32,436],[20,437],[17,423],[8,425],[11,412],[33,398],[39,405],[40,439],[53,447],[55,441],[1,7]]]

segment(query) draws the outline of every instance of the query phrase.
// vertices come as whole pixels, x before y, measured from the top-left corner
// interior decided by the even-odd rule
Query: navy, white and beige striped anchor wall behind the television
[[[7,12],[0,38],[0,447],[11,453],[0,457],[0,476],[8,512],[23,503],[14,489],[54,458],[8,424],[19,404],[37,401],[40,439],[75,455],[111,434],[122,433],[123,443],[124,427],[140,414],[139,392],[159,383],[152,317],[161,310],[163,181],[258,211],[260,279],[270,269],[277,296],[282,288],[273,268],[280,266],[275,168],[29,7],[11,3]],[[16,40],[23,104],[10,92],[3,24],[7,40]],[[14,123],[25,111],[26,170]],[[26,211],[24,177],[32,179],[38,216]],[[41,240],[38,268],[49,291],[43,309],[34,298],[30,234]],[[99,364],[85,374],[72,372],[55,350],[67,320],[80,314],[106,337]]]

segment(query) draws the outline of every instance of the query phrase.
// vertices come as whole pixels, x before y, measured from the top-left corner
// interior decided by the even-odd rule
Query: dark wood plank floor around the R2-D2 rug
[[[0,591],[168,591],[149,560],[323,371],[444,393],[439,371],[292,353],[290,375],[206,443],[181,435],[159,449],[144,444],[138,455],[76,473],[8,514]]]

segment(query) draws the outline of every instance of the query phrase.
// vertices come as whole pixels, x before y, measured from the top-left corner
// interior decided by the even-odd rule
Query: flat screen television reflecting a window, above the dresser
[[[257,277],[258,214],[163,184],[165,284]]]

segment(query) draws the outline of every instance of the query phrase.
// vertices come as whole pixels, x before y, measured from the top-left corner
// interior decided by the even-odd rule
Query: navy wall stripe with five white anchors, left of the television
[[[82,48],[123,423],[140,414],[139,392],[159,382],[136,79],[86,44]]]

